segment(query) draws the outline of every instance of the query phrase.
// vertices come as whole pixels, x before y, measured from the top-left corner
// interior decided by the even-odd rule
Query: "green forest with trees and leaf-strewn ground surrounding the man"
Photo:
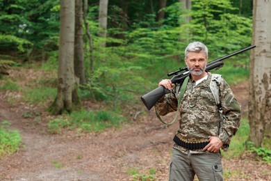
[[[140,97],[186,67],[193,41],[207,45],[209,61],[256,45],[211,72],[242,105],[240,130],[222,152],[225,180],[271,179],[268,8],[259,0],[0,0],[1,180],[167,180],[177,125],[164,126]]]

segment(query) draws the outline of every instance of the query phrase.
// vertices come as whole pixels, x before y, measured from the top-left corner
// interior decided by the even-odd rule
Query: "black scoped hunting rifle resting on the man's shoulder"
[[[251,45],[249,47],[246,47],[245,49],[241,49],[237,52],[234,52],[232,54],[229,54],[227,56],[223,56],[221,58],[217,58],[214,61],[211,61],[209,63],[207,63],[206,65],[206,71],[209,70],[219,70],[220,68],[223,67],[224,63],[222,62],[224,59],[229,58],[231,56],[235,56],[236,54],[240,54],[242,52],[245,52],[249,49],[253,49],[254,47],[256,47],[256,45]],[[186,71],[186,72],[184,72]],[[179,73],[182,72],[182,73]],[[176,85],[180,85],[183,84],[183,80],[186,79],[186,77],[188,77],[189,75],[189,71],[188,68],[179,68],[179,70],[176,70],[174,72],[170,72],[167,74],[168,77],[174,75],[170,80],[172,81],[172,84],[176,84]],[[158,88],[154,89],[153,91],[142,95],[141,100],[142,102],[145,104],[145,107],[147,107],[148,110],[151,109],[151,107],[154,107],[154,104],[156,104],[156,102],[166,93],[170,93],[170,90],[168,90],[167,88],[164,88],[163,86],[159,86]]]

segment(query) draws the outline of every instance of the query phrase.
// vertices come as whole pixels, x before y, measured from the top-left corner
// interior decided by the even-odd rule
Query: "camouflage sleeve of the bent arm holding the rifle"
[[[159,115],[165,116],[167,113],[177,111],[178,100],[176,99],[174,89],[171,93],[163,95],[158,102],[154,105]]]

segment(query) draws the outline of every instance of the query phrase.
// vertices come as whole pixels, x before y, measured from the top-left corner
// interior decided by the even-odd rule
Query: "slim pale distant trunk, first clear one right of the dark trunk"
[[[106,47],[106,32],[107,32],[107,9],[108,9],[108,0],[100,0],[99,3],[99,36],[104,38],[101,46]]]

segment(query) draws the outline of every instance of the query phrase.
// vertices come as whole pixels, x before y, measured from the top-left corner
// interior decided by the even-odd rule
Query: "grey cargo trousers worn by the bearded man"
[[[180,150],[172,149],[170,164],[170,181],[194,180],[199,181],[223,180],[220,153],[204,152],[202,154],[184,154]]]

